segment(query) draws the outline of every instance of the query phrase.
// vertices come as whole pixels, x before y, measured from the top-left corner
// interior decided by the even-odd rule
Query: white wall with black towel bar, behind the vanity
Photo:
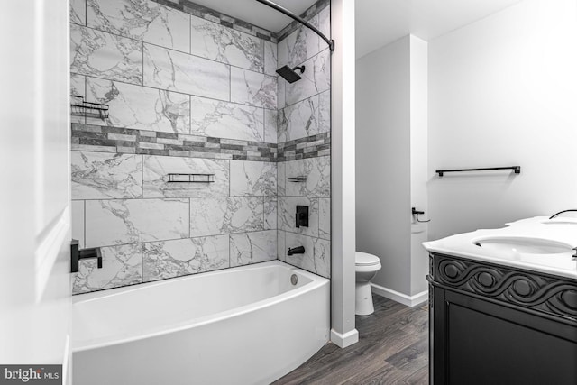
[[[526,0],[429,42],[430,239],[577,206],[576,38],[574,0]]]

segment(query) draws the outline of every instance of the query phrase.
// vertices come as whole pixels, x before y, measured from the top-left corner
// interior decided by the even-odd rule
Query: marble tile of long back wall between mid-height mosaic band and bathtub
[[[277,258],[277,163],[72,151],[74,293]],[[170,183],[168,173],[211,183]]]

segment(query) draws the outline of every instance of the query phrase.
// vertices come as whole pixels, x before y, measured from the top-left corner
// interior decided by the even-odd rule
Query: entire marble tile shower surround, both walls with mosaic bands
[[[84,13],[84,1],[71,3],[72,93],[111,105],[105,122],[73,116],[73,236],[85,247],[101,244],[105,260],[103,269],[80,263],[75,293],[268,261],[275,249],[279,259],[329,277],[328,50],[298,26],[288,32],[282,60],[289,52],[312,70],[286,87],[274,73],[281,65],[274,34],[248,23],[188,1],[179,5],[204,20],[160,5],[171,0],[87,0]],[[323,30],[328,9],[320,4],[307,13]],[[185,19],[190,34],[171,36],[188,27]],[[176,67],[167,72],[168,63]],[[188,77],[203,69],[206,80]],[[219,182],[176,188],[164,180],[198,168],[215,170]],[[304,186],[284,186],[291,173],[308,171]],[[298,234],[284,209],[297,200],[310,204],[315,224]],[[287,260],[291,243],[307,252]]]

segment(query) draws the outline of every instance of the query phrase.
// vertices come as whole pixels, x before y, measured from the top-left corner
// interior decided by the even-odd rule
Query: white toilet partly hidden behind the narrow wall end
[[[368,316],[375,311],[372,306],[371,280],[380,270],[380,259],[376,255],[366,252],[356,252],[354,259],[356,278],[354,314]]]

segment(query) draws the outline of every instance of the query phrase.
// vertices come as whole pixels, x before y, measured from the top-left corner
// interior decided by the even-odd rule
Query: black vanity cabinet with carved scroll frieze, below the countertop
[[[430,383],[577,384],[577,280],[430,253]]]

